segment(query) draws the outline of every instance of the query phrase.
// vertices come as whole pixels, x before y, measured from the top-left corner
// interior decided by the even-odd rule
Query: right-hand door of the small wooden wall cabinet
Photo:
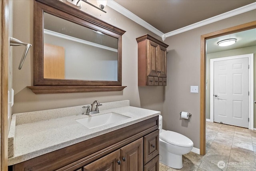
[[[159,56],[157,58],[157,72],[158,72],[158,76],[159,77],[163,77],[166,78],[167,74],[166,74],[166,48],[159,46],[160,50],[159,50]]]

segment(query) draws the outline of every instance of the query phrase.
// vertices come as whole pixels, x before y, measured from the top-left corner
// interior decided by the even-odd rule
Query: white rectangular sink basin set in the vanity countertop
[[[82,125],[84,125],[88,129],[92,129],[92,128],[95,128],[95,127],[100,127],[100,126],[103,126],[103,125],[107,125],[109,123],[122,121],[122,120],[128,119],[128,118],[130,118],[130,117],[120,115],[118,113],[110,112],[110,113],[97,115],[97,116],[88,115],[88,117],[83,118],[83,119],[77,119],[76,121],[78,123],[81,123]]]

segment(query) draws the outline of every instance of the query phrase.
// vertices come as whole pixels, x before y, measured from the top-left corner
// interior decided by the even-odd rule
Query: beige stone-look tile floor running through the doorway
[[[206,122],[206,155],[190,152],[182,158],[182,169],[160,163],[160,171],[256,171],[256,131]]]

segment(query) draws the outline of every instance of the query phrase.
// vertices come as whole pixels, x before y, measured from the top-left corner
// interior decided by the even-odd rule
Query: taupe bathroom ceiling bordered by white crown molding
[[[164,34],[256,0],[114,0]],[[254,4],[256,7],[256,4]]]

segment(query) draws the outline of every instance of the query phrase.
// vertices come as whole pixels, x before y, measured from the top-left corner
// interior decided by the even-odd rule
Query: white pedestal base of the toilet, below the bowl
[[[159,161],[160,163],[163,163],[164,165],[167,165],[174,169],[181,169],[183,167],[182,155],[169,153],[164,148],[161,148],[161,146],[159,150]]]

